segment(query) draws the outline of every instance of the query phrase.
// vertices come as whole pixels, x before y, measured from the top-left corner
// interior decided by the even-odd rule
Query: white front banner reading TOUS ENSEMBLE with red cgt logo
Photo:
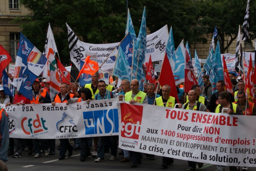
[[[122,149],[215,165],[255,167],[255,116],[138,103],[118,104],[118,114]]]

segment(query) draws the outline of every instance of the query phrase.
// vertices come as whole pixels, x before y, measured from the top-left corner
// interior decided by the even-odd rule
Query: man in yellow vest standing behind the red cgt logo
[[[137,79],[133,79],[131,81],[131,90],[124,95],[119,95],[119,100],[129,101],[129,103],[143,103],[148,104],[147,94],[139,90],[139,81]],[[141,164],[142,153],[141,152],[132,152],[132,165],[131,167],[138,167],[138,164]]]

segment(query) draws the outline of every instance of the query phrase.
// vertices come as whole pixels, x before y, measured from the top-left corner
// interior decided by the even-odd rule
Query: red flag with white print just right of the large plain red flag
[[[188,51],[186,50],[186,63],[185,63],[185,93],[188,93],[191,90],[192,85],[198,85],[197,80],[193,72],[190,70],[189,65],[192,65]],[[193,65],[192,65],[193,66]]]

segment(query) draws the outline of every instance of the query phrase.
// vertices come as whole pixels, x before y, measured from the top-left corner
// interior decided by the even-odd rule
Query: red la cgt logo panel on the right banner
[[[139,139],[143,106],[121,103],[121,136]]]

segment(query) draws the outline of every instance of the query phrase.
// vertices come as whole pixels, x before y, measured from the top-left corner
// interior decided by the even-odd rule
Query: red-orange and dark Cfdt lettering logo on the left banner
[[[32,118],[27,118],[27,117],[24,117],[22,120],[21,120],[21,128],[23,130],[23,132],[27,135],[30,135],[30,134],[35,134],[35,133],[38,133],[38,132],[43,132],[44,130],[48,130],[47,127],[45,127],[45,120],[44,118],[39,118],[39,115],[36,114],[36,119],[32,119]],[[25,128],[29,128],[29,130],[26,130]]]

